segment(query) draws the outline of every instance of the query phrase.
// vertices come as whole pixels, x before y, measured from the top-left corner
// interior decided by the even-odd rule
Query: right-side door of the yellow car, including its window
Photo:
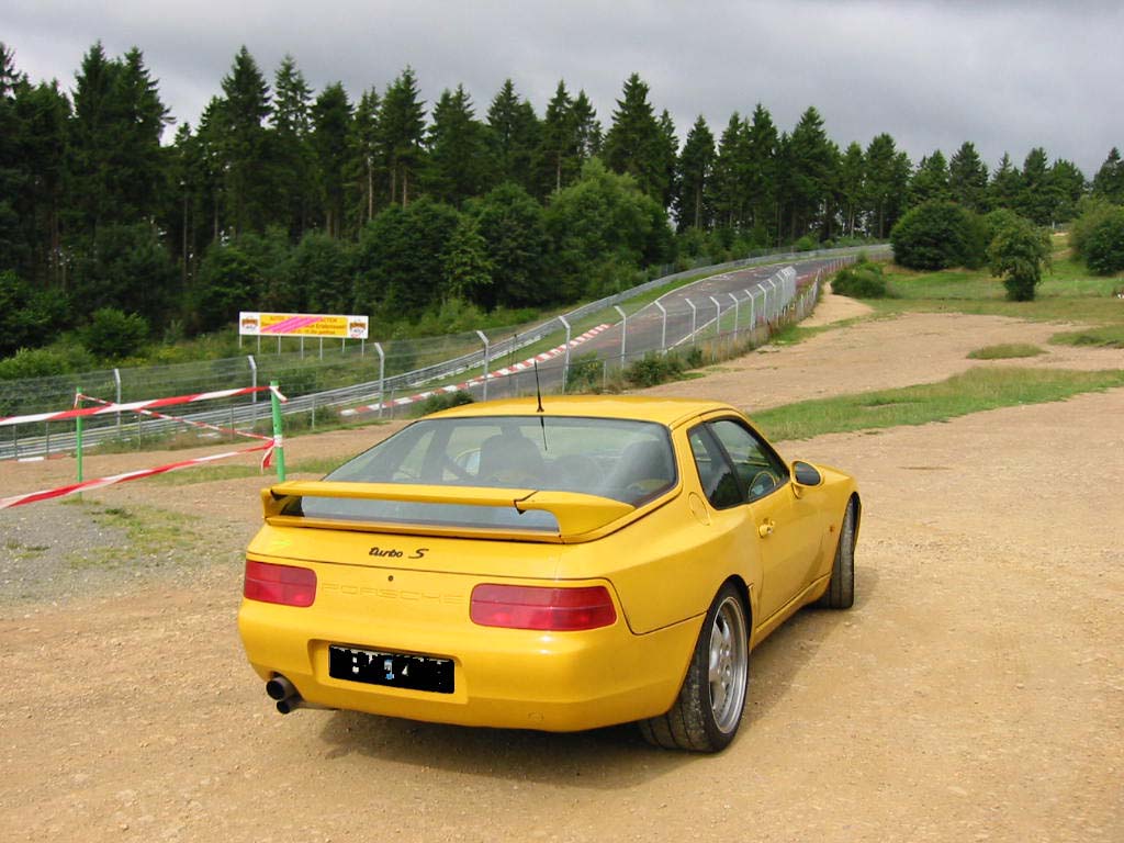
[[[815,507],[792,491],[788,465],[764,438],[740,419],[707,424],[737,480],[750,541],[758,541],[763,580],[759,611],[767,620],[809,582],[819,555]]]

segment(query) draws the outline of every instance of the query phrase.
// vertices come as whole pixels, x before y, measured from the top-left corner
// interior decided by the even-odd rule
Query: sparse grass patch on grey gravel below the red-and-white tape
[[[191,527],[192,518],[155,507],[105,507],[89,504],[91,517],[99,527],[119,531],[125,541],[110,546],[92,547],[72,553],[67,563],[72,569],[117,569],[139,563],[160,565],[179,563],[184,556],[194,555],[200,542]]]

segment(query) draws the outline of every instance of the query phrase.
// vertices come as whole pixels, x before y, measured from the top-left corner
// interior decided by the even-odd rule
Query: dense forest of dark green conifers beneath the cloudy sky
[[[487,108],[463,85],[430,107],[409,66],[356,97],[292,56],[271,82],[243,47],[191,126],[138,48],[94,44],[70,90],[17,58],[0,44],[0,357],[126,359],[239,309],[368,314],[387,338],[511,324],[669,264],[885,239],[931,200],[1037,225],[1124,201],[1115,148],[1091,182],[1041,147],[914,163],[885,133],[836,143],[815,107],[790,129],[760,103],[699,117],[680,142],[637,74],[602,123],[564,81],[542,107],[511,80]]]

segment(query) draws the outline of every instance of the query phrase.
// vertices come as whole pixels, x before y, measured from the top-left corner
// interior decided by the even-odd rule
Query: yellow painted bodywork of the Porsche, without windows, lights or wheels
[[[827,588],[843,514],[856,495],[849,475],[817,466],[822,482],[815,486],[789,478],[758,500],[715,507],[688,436],[706,420],[744,424],[733,408],[628,398],[547,404],[547,418],[658,423],[672,448],[673,482],[651,499],[636,492],[635,500],[455,480],[329,480],[264,490],[266,523],[247,560],[310,570],[316,591],[311,606],[243,600],[238,628],[257,674],[284,677],[306,703],[328,708],[472,726],[586,729],[654,717],[674,704],[703,619],[724,583],[735,582],[744,595],[751,646]],[[533,407],[526,400],[480,404],[428,418],[526,419],[535,418]],[[315,498],[469,513],[536,510],[554,526],[524,532],[509,524],[465,527],[302,511]],[[483,583],[602,587],[616,617],[572,632],[480,625],[471,604]],[[453,690],[334,678],[329,645],[448,660]]]

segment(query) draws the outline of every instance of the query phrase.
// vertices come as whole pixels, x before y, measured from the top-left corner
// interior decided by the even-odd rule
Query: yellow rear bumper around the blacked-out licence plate
[[[380,623],[243,600],[238,631],[250,663],[289,679],[328,708],[434,723],[573,732],[652,717],[674,703],[701,617],[633,635],[618,616],[589,632]],[[451,659],[452,694],[414,691],[328,676],[328,646]]]

